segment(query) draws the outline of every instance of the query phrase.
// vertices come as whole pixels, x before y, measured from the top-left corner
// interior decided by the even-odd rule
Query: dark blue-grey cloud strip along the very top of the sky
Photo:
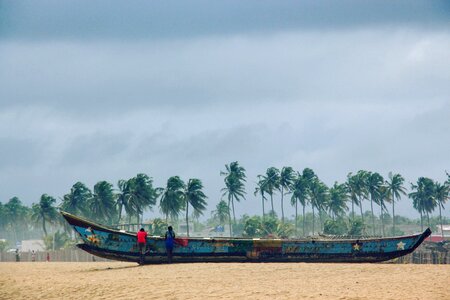
[[[434,1],[1,1],[0,38],[191,38],[354,26],[449,24]]]

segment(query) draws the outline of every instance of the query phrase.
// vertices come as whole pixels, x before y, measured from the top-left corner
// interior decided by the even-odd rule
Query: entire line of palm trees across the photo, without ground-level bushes
[[[213,211],[213,216],[221,224],[228,222],[231,235],[242,234],[245,230],[235,232],[234,229],[238,227],[235,208],[247,196],[246,170],[236,161],[226,164],[225,170],[221,171],[220,175],[224,180],[223,194]],[[246,219],[246,221],[253,222],[253,225],[259,222],[260,227],[261,224],[269,224],[273,219],[277,219],[274,202],[278,201],[281,218],[277,224],[280,225],[278,228],[280,231],[284,230],[285,227],[282,225],[287,222],[285,206],[288,204],[295,209],[292,234],[296,236],[323,232],[326,226],[342,220],[349,211],[349,221],[359,224],[363,233],[386,235],[383,215],[391,210],[392,234],[395,235],[395,204],[402,199],[402,196],[405,196],[411,199],[414,209],[419,212],[422,230],[424,218],[430,226],[430,214],[436,208],[439,210],[442,226],[442,209],[449,199],[450,191],[450,175],[447,174],[447,176],[448,180],[444,183],[420,177],[416,183],[411,184],[410,192],[407,193],[404,178],[400,174],[389,173],[385,179],[377,172],[360,170],[354,174],[349,173],[345,182],[335,182],[329,187],[310,168],[300,172],[292,167],[281,169],[270,167],[264,174],[257,176],[253,193],[261,200],[262,216],[259,221],[257,219]],[[107,181],[100,181],[91,191],[85,184],[77,182],[69,193],[60,198],[58,204],[57,202],[56,198],[48,194],[43,194],[39,202],[33,203],[31,207],[23,205],[17,197],[11,198],[5,204],[0,202],[0,229],[9,229],[15,234],[16,230],[25,226],[24,224],[32,222],[39,224],[44,235],[47,236],[48,226],[65,224],[57,212],[58,208],[113,226],[132,222],[141,224],[144,211],[158,207],[165,218],[165,223],[168,223],[169,219],[178,220],[184,212],[185,222],[189,225],[191,216],[198,217],[206,210],[207,196],[203,191],[201,180],[197,178],[191,178],[185,182],[179,176],[172,176],[167,180],[165,187],[155,187],[151,177],[146,174],[137,174],[128,180],[119,180],[117,189]],[[370,203],[369,216],[363,213],[364,202]],[[267,205],[270,206],[266,208]],[[391,206],[390,209],[388,205]],[[309,224],[312,226],[309,232],[306,231],[307,207],[312,210],[312,220]],[[381,221],[379,228],[375,226],[377,207]],[[359,213],[356,212],[358,208]],[[192,214],[189,215],[191,209]],[[301,210],[301,218],[299,210]],[[319,218],[318,228],[316,218]],[[301,234],[299,219],[302,221]],[[253,225],[250,223],[247,224],[247,233],[252,231],[250,228]],[[269,228],[272,225],[267,226]],[[258,230],[267,231],[261,228]],[[367,232],[368,230],[370,232]],[[189,226],[187,226],[187,234],[189,235]]]

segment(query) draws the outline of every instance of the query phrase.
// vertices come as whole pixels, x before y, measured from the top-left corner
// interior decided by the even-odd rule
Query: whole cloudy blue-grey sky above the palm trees
[[[449,49],[448,1],[0,0],[0,201],[146,173],[201,179],[210,211],[232,161],[237,215],[272,166],[443,182]]]

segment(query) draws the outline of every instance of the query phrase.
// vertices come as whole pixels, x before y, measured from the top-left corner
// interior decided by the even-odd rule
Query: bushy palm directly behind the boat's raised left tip
[[[91,198],[91,190],[84,183],[77,182],[70,189],[70,193],[63,196],[61,209],[71,214],[90,217],[88,202]]]

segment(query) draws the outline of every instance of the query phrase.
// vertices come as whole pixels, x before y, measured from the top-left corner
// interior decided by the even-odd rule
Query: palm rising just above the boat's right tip
[[[430,226],[429,212],[434,209],[434,182],[430,178],[420,177],[417,184],[411,183],[412,192],[408,197],[413,200],[414,208],[420,213],[420,227],[423,231],[423,214],[428,217],[428,226]]]

